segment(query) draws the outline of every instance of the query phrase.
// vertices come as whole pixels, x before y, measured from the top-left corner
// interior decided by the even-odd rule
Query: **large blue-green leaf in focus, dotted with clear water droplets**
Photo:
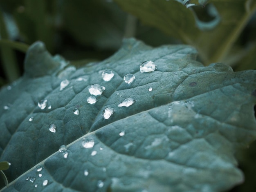
[[[243,182],[234,152],[256,138],[256,71],[203,67],[193,47],[128,39],[100,63],[59,60],[32,76],[43,55],[42,68],[56,61],[41,45],[29,48],[25,75],[0,91],[0,159],[12,164],[3,191],[198,192]],[[148,62],[141,73],[147,60],[157,68]]]

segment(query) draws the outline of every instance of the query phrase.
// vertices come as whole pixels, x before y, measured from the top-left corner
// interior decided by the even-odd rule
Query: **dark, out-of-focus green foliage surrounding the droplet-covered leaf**
[[[0,86],[22,75],[37,40],[76,67],[111,56],[123,38],[135,37],[151,46],[192,45],[204,65],[256,69],[256,0],[207,1],[1,0]],[[254,192],[255,142],[236,155],[245,183],[230,191]]]

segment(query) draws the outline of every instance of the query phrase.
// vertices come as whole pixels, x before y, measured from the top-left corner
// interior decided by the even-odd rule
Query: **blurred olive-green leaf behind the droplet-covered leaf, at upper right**
[[[115,2],[146,25],[157,27],[168,35],[193,45],[198,49],[205,65],[225,59],[256,10],[256,1],[252,0],[212,0],[212,3],[207,4],[206,7],[189,7],[189,9],[181,3],[181,0],[115,0]],[[207,1],[198,2],[204,4]],[[208,19],[204,20],[205,18]],[[209,30],[201,30],[202,27],[206,29],[207,26]]]

